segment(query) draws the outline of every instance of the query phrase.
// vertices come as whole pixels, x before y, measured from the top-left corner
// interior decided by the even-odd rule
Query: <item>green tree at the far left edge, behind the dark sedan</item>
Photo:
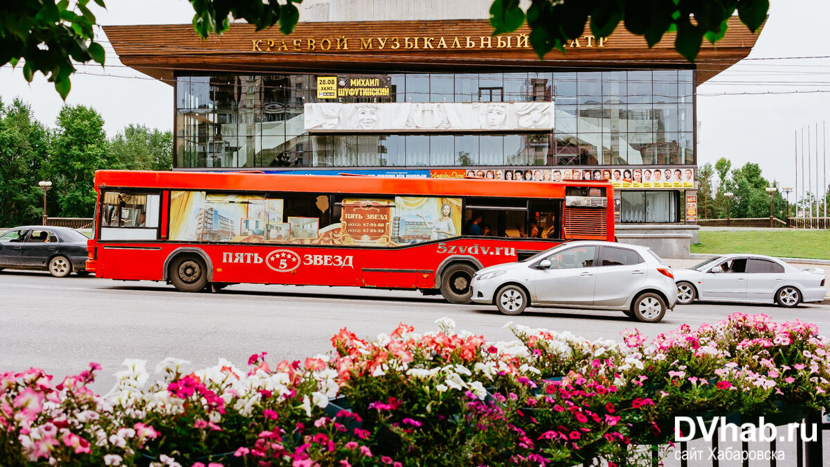
[[[32,117],[32,109],[15,99],[0,101],[0,227],[39,224],[42,192],[37,189],[48,133]]]

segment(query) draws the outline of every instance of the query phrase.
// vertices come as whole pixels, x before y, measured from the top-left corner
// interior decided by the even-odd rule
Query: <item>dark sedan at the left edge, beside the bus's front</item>
[[[41,269],[56,278],[85,275],[86,238],[76,229],[32,225],[0,235],[0,270]]]

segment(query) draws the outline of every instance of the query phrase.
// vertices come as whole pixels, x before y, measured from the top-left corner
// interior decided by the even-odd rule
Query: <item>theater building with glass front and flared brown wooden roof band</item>
[[[622,27],[540,61],[526,28],[491,37],[490,0],[453,3],[311,2],[289,36],[104,30],[125,65],[174,87],[176,170],[603,178],[623,230],[695,223],[696,86],[749,54],[737,17],[696,65],[672,34],[649,49]]]

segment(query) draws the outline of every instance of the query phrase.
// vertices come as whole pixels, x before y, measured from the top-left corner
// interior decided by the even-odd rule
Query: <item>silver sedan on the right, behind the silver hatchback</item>
[[[778,303],[795,307],[821,302],[824,270],[795,268],[759,254],[725,254],[688,269],[675,269],[677,302]]]

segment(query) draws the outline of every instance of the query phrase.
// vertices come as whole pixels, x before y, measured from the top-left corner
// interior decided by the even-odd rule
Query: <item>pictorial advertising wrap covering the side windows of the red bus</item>
[[[324,201],[317,206],[320,214],[328,215]],[[169,237],[190,242],[395,246],[461,235],[461,198],[347,198],[339,204],[339,223],[324,228],[320,217],[286,216],[283,208],[283,199],[263,195],[173,191]]]

